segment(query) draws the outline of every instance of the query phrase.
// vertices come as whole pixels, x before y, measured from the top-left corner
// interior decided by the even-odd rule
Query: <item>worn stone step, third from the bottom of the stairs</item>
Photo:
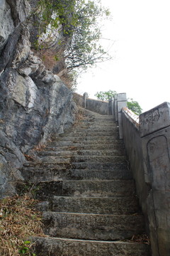
[[[38,203],[42,211],[62,213],[91,213],[132,215],[139,212],[135,196],[125,198],[74,198],[55,196],[51,201]]]

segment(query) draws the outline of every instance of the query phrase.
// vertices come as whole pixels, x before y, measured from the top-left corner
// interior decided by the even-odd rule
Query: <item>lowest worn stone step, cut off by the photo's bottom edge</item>
[[[38,256],[149,256],[149,245],[137,242],[32,238]]]

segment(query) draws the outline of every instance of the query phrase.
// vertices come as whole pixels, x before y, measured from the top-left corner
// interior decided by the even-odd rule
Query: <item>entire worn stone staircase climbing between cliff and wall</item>
[[[145,233],[123,142],[111,116],[86,111],[53,138],[23,176],[38,184],[46,238],[33,238],[38,256],[149,256],[129,242]]]

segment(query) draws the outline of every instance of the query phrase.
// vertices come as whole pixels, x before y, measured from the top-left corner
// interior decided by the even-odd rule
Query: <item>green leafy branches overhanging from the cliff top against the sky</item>
[[[101,7],[100,0],[39,0],[35,14],[40,33],[46,33],[49,26],[56,31],[62,24],[62,33],[69,38],[64,51],[68,70],[86,70],[89,65],[111,59],[98,43],[101,38],[99,23],[110,15],[108,9]],[[59,41],[60,45],[62,43],[65,42]],[[38,48],[37,41],[35,48]]]

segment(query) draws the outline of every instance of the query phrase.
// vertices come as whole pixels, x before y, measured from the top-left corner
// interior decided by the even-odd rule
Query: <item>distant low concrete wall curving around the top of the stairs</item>
[[[105,102],[103,100],[93,100],[74,93],[74,101],[79,105],[80,107],[85,107],[86,110],[94,111],[98,114],[108,114],[108,102]]]

